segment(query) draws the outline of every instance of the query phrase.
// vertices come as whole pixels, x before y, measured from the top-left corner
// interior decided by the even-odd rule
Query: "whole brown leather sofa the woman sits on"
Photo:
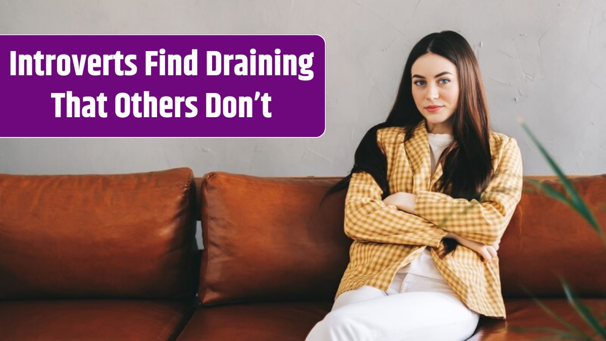
[[[304,340],[348,262],[345,192],[319,204],[339,179],[0,175],[0,340]],[[573,183],[605,226],[606,175]],[[590,331],[558,275],[606,311],[606,250],[559,201],[524,192],[499,264],[507,320],[481,319],[470,340],[560,328],[523,287]]]

